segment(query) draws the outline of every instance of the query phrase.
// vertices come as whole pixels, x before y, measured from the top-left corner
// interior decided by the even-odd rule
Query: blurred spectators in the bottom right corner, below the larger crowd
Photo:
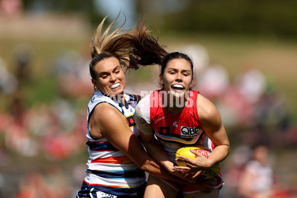
[[[232,150],[225,167],[222,198],[297,198],[297,188],[275,170],[271,146],[255,144]],[[225,164],[226,166],[226,164]]]

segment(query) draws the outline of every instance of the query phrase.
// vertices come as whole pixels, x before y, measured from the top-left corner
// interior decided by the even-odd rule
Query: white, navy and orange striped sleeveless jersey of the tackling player
[[[90,134],[89,115],[99,103],[105,102],[118,109],[127,118],[127,123],[133,133],[139,136],[134,121],[134,111],[137,102],[133,97],[126,94],[124,94],[124,97],[125,105],[120,101],[115,102],[113,99],[103,96],[100,91],[97,91],[89,102],[87,114],[88,142],[86,144],[89,146],[88,152],[90,157],[87,163],[89,168],[86,170],[87,175],[82,189],[91,187],[107,194],[119,196],[144,191],[146,186],[145,172],[123,152],[111,145],[106,138],[96,140]]]

